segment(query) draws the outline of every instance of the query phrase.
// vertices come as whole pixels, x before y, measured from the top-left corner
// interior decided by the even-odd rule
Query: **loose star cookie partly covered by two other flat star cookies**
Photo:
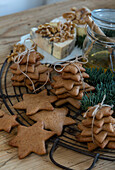
[[[53,111],[40,111],[30,116],[30,118],[38,122],[43,121],[45,129],[50,129],[57,135],[61,135],[64,125],[75,123],[75,120],[66,117],[67,113],[67,108],[55,108]]]

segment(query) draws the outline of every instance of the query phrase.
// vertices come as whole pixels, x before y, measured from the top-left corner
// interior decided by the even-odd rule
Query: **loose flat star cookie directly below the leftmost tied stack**
[[[57,100],[56,96],[48,96],[47,90],[38,94],[24,94],[23,101],[13,105],[15,109],[26,109],[27,115],[32,115],[39,110],[54,110],[51,103]]]

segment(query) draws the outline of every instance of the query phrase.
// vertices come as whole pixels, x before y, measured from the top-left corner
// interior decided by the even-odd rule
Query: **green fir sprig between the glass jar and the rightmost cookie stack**
[[[86,68],[86,72],[90,76],[87,82],[95,86],[95,92],[83,96],[82,110],[86,111],[89,106],[100,103],[104,95],[106,95],[104,103],[114,105],[115,110],[115,75],[109,69],[104,72],[102,68],[99,70]]]

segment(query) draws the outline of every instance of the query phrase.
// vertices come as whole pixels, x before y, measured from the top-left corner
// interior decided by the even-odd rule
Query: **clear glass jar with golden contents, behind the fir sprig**
[[[92,19],[104,34],[99,34],[87,26],[87,36],[83,43],[83,56],[88,57],[87,66],[111,68],[115,71],[115,9],[92,11]]]

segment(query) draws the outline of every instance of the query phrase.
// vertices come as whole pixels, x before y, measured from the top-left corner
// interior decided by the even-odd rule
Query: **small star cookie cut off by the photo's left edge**
[[[12,127],[18,126],[18,122],[16,121],[17,115],[8,115],[0,110],[0,131],[4,130],[6,132],[10,132]]]

